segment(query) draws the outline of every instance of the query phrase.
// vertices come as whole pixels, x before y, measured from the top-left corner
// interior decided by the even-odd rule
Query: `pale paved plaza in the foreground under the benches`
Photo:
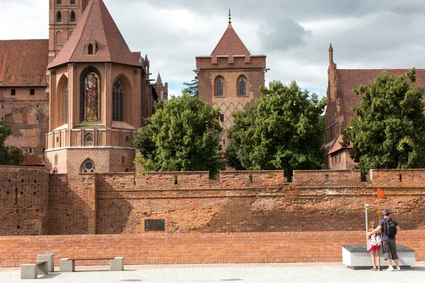
[[[125,265],[122,272],[108,267],[76,267],[77,272],[55,272],[38,279],[20,279],[19,268],[0,268],[1,283],[112,283],[112,282],[424,282],[425,262],[401,272],[350,270],[341,263],[257,265]],[[55,267],[55,270],[57,267]]]

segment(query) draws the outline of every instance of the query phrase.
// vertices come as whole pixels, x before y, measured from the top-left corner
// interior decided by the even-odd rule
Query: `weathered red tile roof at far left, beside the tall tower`
[[[49,40],[0,40],[0,86],[45,86]]]

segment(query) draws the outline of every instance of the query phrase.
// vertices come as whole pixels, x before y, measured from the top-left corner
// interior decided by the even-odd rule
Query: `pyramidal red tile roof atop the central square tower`
[[[220,41],[215,46],[215,49],[212,51],[211,56],[217,58],[217,56],[246,56],[249,58],[251,53],[242,42],[239,35],[234,31],[232,23],[229,23],[227,30],[222,35]]]

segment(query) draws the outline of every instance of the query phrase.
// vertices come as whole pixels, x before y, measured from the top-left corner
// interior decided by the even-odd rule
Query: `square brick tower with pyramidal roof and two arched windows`
[[[223,149],[226,129],[233,125],[232,112],[260,98],[266,71],[266,56],[249,52],[233,29],[229,10],[229,24],[215,49],[210,56],[196,57],[199,98],[221,110]]]

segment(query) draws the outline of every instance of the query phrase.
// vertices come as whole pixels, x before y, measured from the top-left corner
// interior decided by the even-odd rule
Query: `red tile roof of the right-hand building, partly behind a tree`
[[[391,76],[399,76],[405,74],[409,69],[388,69],[387,71]],[[344,110],[344,123],[347,125],[350,117],[354,115],[351,108],[356,107],[362,99],[362,96],[356,96],[353,93],[353,88],[356,88],[359,84],[373,83],[375,78],[382,73],[382,69],[337,69],[336,73],[339,85],[338,92]],[[425,69],[416,69],[416,81],[412,85],[425,88]]]

